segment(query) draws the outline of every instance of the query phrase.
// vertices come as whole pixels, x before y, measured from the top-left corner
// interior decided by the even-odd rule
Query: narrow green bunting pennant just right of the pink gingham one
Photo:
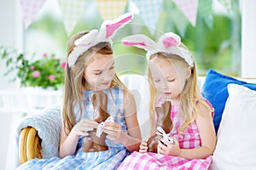
[[[207,26],[212,29],[212,0],[201,0],[199,2],[198,14],[206,22]]]

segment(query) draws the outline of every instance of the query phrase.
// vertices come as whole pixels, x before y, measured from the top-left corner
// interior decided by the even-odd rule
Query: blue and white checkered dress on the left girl
[[[113,116],[114,122],[122,125],[122,129],[127,133],[124,117],[124,91],[119,88],[111,88],[104,91],[108,94],[108,113]],[[93,106],[90,96],[92,91],[84,91],[85,109],[83,116],[91,118],[93,116]],[[78,113],[79,114],[79,113]],[[76,117],[79,122],[79,116]],[[52,157],[50,159],[33,159],[26,161],[17,169],[117,169],[129,151],[122,144],[106,139],[108,150],[98,152],[84,152],[83,137],[80,137],[79,144],[73,156],[64,158]]]

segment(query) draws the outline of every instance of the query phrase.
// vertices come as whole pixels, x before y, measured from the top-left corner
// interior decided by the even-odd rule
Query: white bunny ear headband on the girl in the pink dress
[[[181,38],[173,32],[167,32],[163,34],[159,38],[158,42],[154,42],[152,39],[143,34],[124,37],[122,42],[126,46],[135,46],[137,48],[145,49],[148,52],[148,59],[151,55],[158,52],[163,52],[166,54],[177,54],[181,58],[185,59],[189,66],[194,67],[194,59],[192,59],[192,56],[188,50],[179,47]]]

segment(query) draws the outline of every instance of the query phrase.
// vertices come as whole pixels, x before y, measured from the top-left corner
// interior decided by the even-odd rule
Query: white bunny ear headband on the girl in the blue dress
[[[68,66],[71,68],[79,58],[81,54],[84,54],[89,48],[95,46],[100,42],[109,42],[112,44],[111,38],[114,36],[114,33],[119,30],[119,28],[125,26],[131,21],[133,14],[126,13],[119,16],[116,20],[105,20],[102,23],[101,29],[91,30],[89,33],[77,39],[74,44],[75,48],[68,56]]]

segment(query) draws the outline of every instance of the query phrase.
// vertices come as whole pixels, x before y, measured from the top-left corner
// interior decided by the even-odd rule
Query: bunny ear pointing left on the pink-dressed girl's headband
[[[143,48],[146,51],[155,50],[155,44],[156,44],[152,39],[150,39],[147,36],[144,36],[143,34],[124,37],[122,39],[122,42],[126,46],[135,46],[137,48]]]

